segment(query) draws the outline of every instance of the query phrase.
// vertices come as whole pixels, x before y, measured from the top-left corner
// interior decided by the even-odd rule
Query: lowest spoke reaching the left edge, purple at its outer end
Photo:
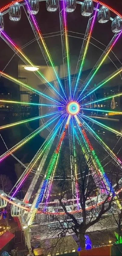
[[[59,112],[58,112],[59,113]],[[6,151],[1,157],[0,162],[2,162],[6,157],[10,156],[12,153],[14,153],[16,150],[18,150],[21,146],[25,145],[29,140],[33,139],[36,135],[38,135],[40,132],[42,132],[45,128],[47,128],[50,124],[52,124],[55,120],[57,120],[58,117],[60,117],[61,114],[56,116],[55,118],[51,118],[53,120],[47,121],[45,124],[43,124],[41,127],[39,127],[36,131],[32,132],[30,135],[28,135],[25,139],[21,140],[21,142],[18,142],[16,146],[13,146],[10,150]]]

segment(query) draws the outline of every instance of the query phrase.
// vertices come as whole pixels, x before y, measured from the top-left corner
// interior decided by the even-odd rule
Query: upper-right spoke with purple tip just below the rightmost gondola
[[[94,73],[92,74],[92,76],[90,77],[91,73],[89,74],[90,79],[87,81],[87,78],[84,82],[85,87],[84,89],[81,91],[81,94],[79,95],[78,99],[81,97],[82,93],[84,92],[84,90],[87,88],[87,86],[90,84],[90,82],[92,81],[92,79],[94,78],[94,76],[96,75],[97,71],[100,69],[100,67],[102,66],[102,64],[104,63],[105,59],[107,58],[107,56],[109,55],[109,53],[112,51],[112,48],[114,47],[114,45],[117,43],[118,39],[120,38],[122,34],[122,31],[118,34],[115,35],[112,40],[110,41],[110,44],[107,46],[107,48],[105,49],[105,51],[103,52],[102,56],[100,57],[100,60],[97,61],[97,63],[95,64],[95,66],[93,67],[92,70],[95,70]],[[114,39],[115,38],[115,39]],[[104,56],[105,54],[105,56]]]

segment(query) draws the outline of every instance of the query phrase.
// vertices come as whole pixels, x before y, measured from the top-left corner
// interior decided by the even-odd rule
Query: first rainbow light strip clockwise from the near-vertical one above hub
[[[80,70],[79,70],[79,73],[78,73],[78,76],[77,76],[77,81],[76,81],[76,85],[75,85],[75,88],[74,88],[74,93],[73,93],[73,98],[72,98],[72,99],[74,99],[74,95],[75,95],[75,92],[76,92],[76,90],[77,90],[77,86],[78,86],[78,83],[79,83],[79,80],[80,80],[80,77],[81,77],[81,72],[82,72],[82,69],[83,69],[83,66],[84,66],[85,57],[86,57],[86,54],[87,54],[87,50],[88,50],[90,38],[91,38],[91,35],[92,35],[92,31],[93,31],[93,28],[94,28],[95,19],[96,19],[96,16],[97,16],[98,5],[99,5],[99,4],[97,4],[96,10],[95,10],[95,14],[94,14],[94,18],[93,18],[93,21],[92,21],[92,23],[91,23],[91,27],[90,27],[90,31],[89,31],[87,43],[86,43],[86,46],[85,46],[85,49],[84,49],[84,54],[83,54],[83,58],[82,58]],[[78,97],[78,99],[79,99],[79,97]]]

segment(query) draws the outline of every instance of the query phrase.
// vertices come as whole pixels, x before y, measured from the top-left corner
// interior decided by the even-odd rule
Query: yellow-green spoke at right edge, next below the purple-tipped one
[[[99,83],[97,86],[95,86],[94,89],[91,90],[91,92],[89,92],[86,96],[84,96],[82,99],[85,99],[87,96],[91,95],[91,93],[95,92],[96,90],[98,90],[101,86],[105,85],[107,82],[109,82],[111,79],[113,79],[114,77],[116,77],[118,74],[120,74],[122,72],[122,68],[120,68],[119,70],[115,71],[112,75],[110,75],[109,77],[105,78],[101,83]],[[82,99],[80,99],[78,102],[80,102]]]

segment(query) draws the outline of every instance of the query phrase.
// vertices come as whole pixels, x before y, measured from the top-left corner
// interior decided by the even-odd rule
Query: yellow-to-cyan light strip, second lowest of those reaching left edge
[[[35,120],[38,120],[38,119],[41,119],[41,118],[44,118],[44,117],[49,117],[49,116],[52,116],[52,115],[57,114],[57,113],[59,113],[59,112],[53,112],[53,113],[46,114],[46,115],[43,115],[43,116],[32,117],[32,118],[29,118],[29,119],[26,119],[26,120],[23,120],[23,121],[19,121],[19,122],[15,122],[15,123],[12,123],[12,124],[6,124],[6,125],[3,125],[3,126],[0,126],[0,130],[6,129],[6,128],[9,128],[9,127],[12,127],[12,126],[15,126],[15,125],[18,125],[18,124],[24,124],[24,123],[27,123],[27,122],[35,121]]]

